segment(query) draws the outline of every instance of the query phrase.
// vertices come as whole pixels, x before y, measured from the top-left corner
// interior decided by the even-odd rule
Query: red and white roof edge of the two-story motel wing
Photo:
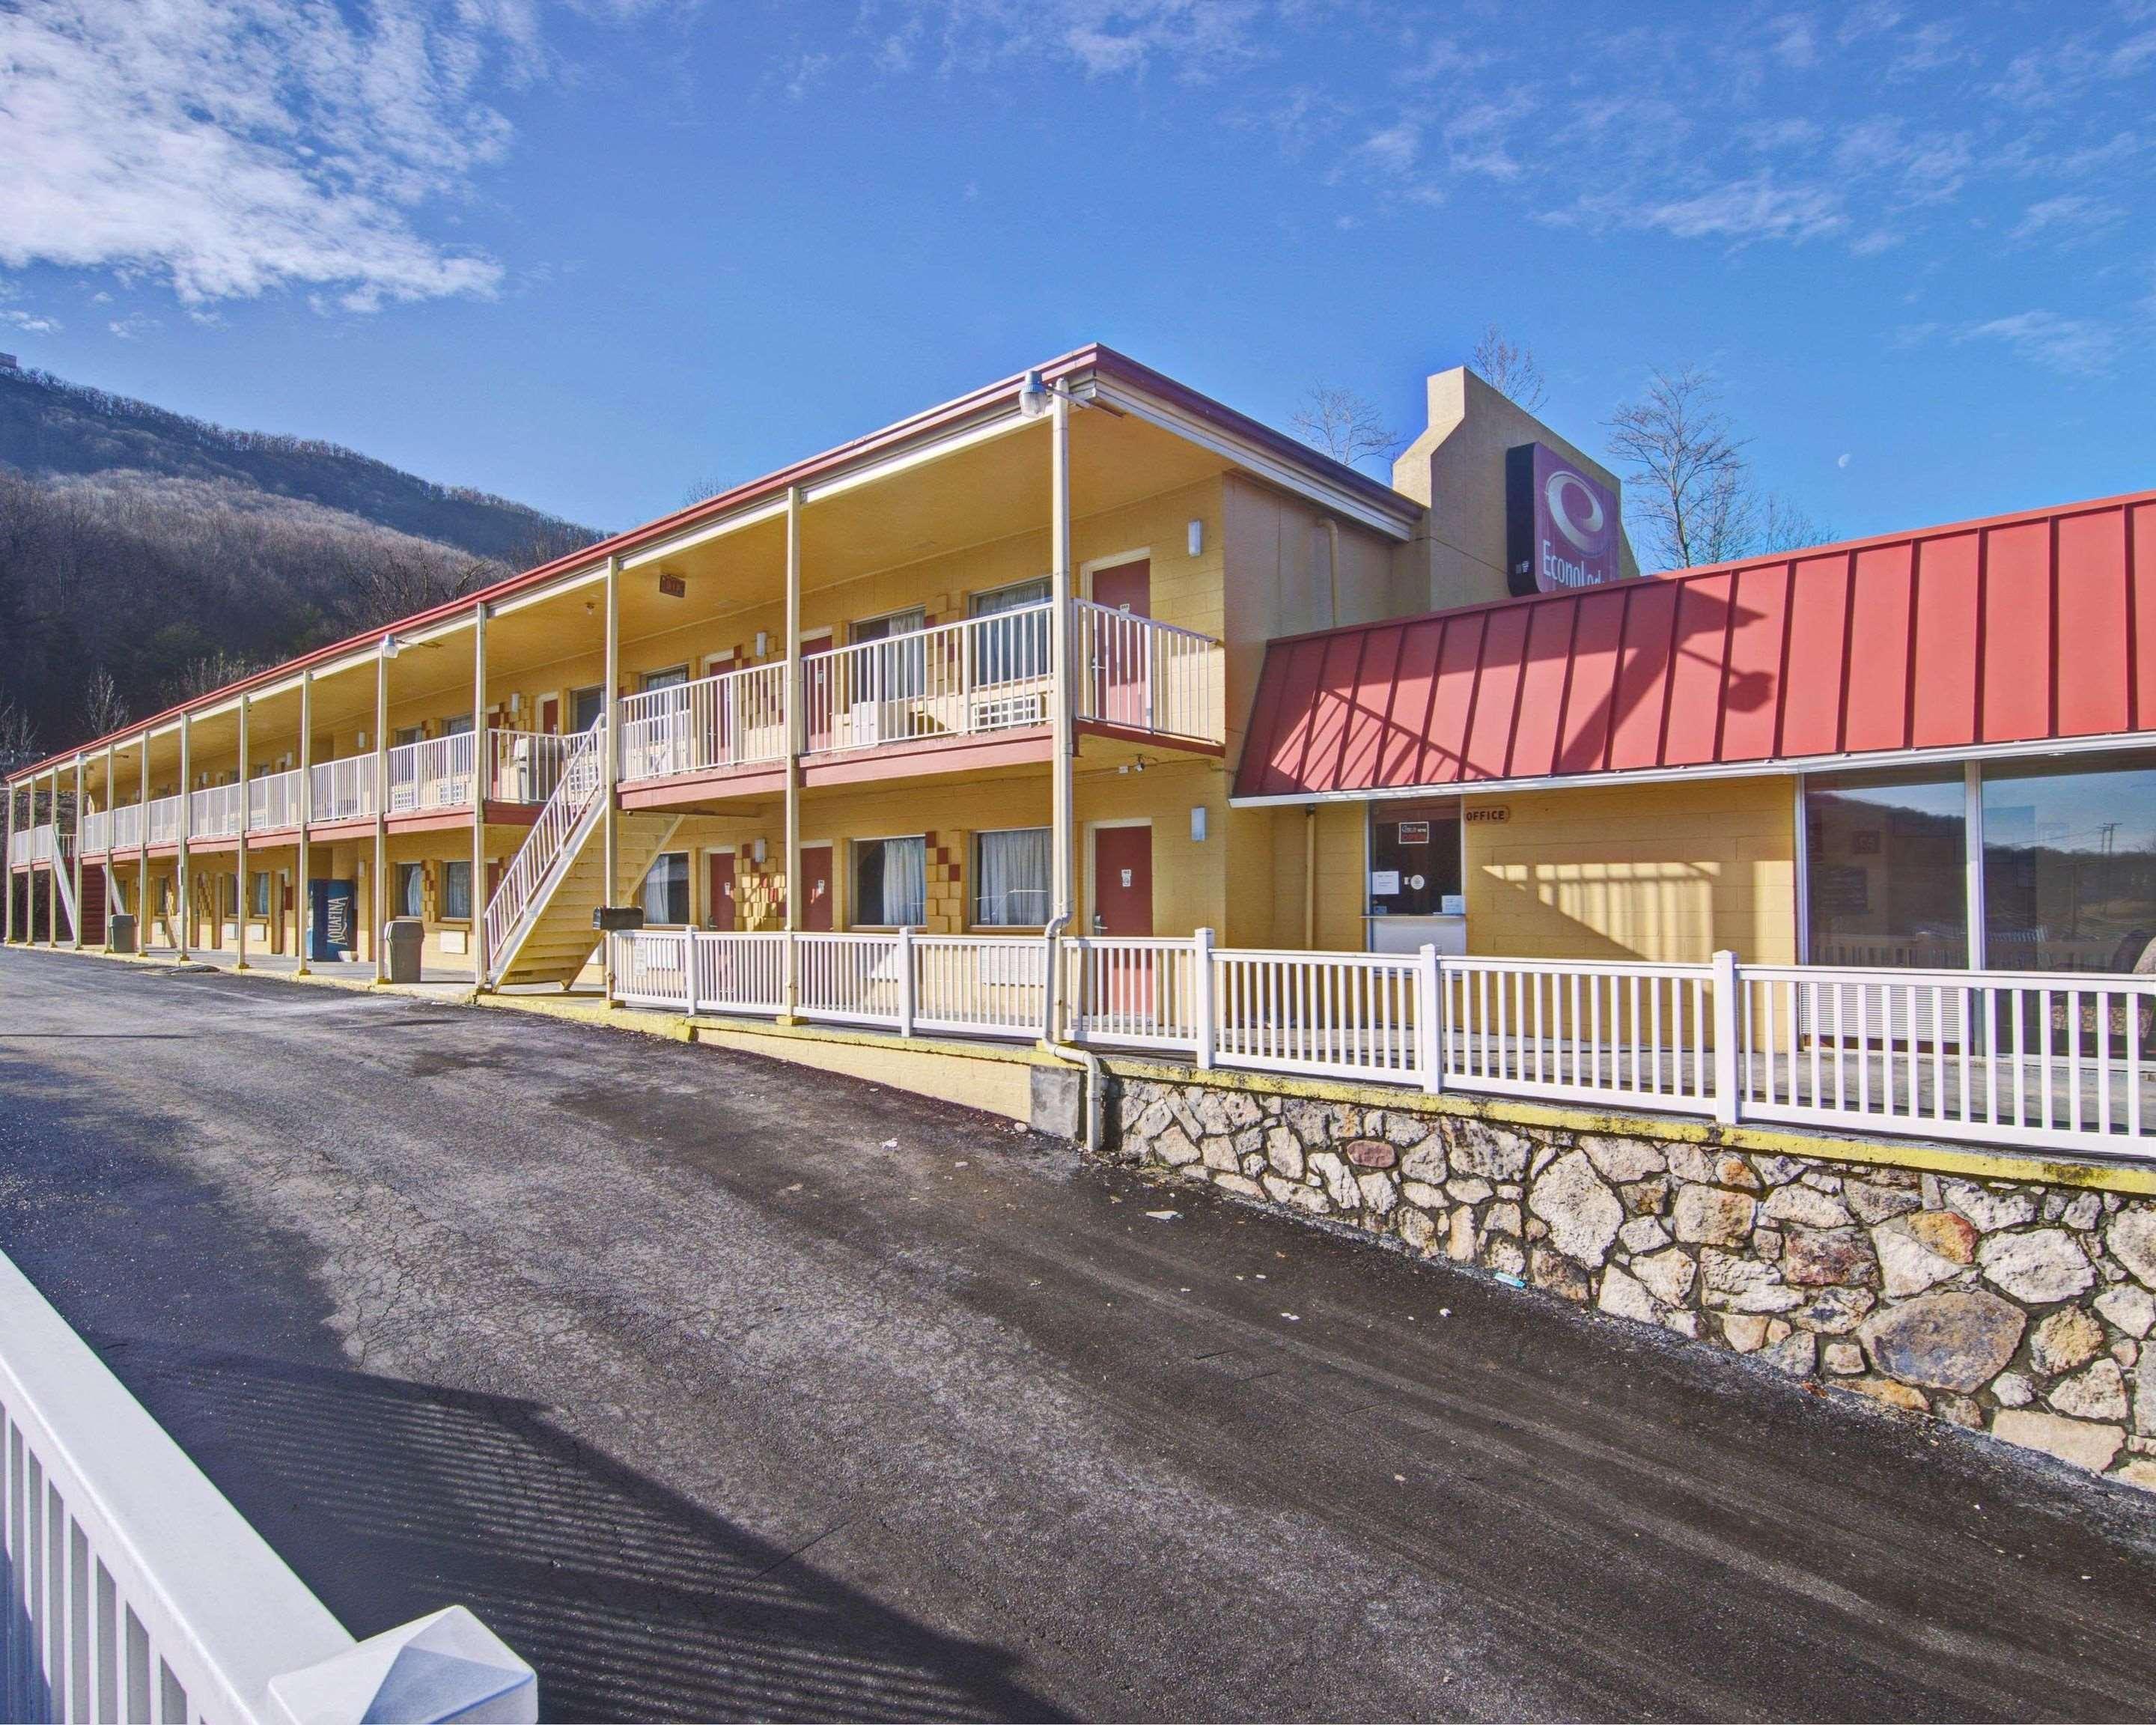
[[[1317,477],[1326,485],[1335,485],[1358,494],[1367,505],[1371,505],[1382,513],[1397,515],[1404,524],[1412,524],[1421,515],[1421,505],[1414,502],[1414,498],[1395,492],[1384,481],[1371,479],[1367,472],[1358,472],[1356,468],[1350,468],[1345,461],[1335,461],[1330,455],[1324,455],[1322,451],[1315,451],[1309,444],[1289,438],[1285,431],[1276,431],[1270,425],[1261,425],[1248,414],[1240,414],[1227,403],[1216,401],[1214,397],[1203,395],[1190,388],[1188,384],[1175,382],[1164,371],[1153,371],[1151,367],[1132,360],[1128,354],[1119,354],[1117,349],[1106,347],[1097,341],[1087,343],[1084,347],[1074,347],[1072,351],[1061,354],[1059,358],[1048,360],[1046,364],[1026,367],[1026,371],[1039,371],[1041,377],[1050,384],[1056,382],[1069,384],[1074,380],[1084,380],[1087,375],[1095,373],[1117,377],[1125,384],[1149,390],[1151,395],[1171,401],[1175,408],[1190,414],[1192,418],[1205,420],[1207,425],[1233,438],[1259,444],[1276,459],[1307,468],[1313,477]],[[116,731],[106,731],[103,735],[91,737],[88,742],[75,744],[73,748],[54,750],[52,755],[45,755],[32,765],[17,768],[15,772],[6,774],[6,783],[15,785],[24,778],[37,778],[41,774],[47,774],[54,768],[71,765],[75,757],[101,753],[108,746],[119,746],[132,737],[144,735],[147,731],[164,729],[172,720],[190,712],[198,712],[201,707],[222,705],[224,701],[231,701],[235,694],[246,694],[252,688],[282,681],[285,677],[291,677],[300,671],[308,671],[313,666],[347,658],[356,651],[362,651],[369,643],[382,640],[384,636],[410,634],[416,630],[431,627],[436,623],[444,623],[457,617],[459,612],[472,610],[476,606],[496,604],[517,593],[528,593],[535,586],[545,586],[552,580],[561,580],[563,576],[591,569],[595,563],[604,563],[608,556],[625,556],[645,546],[671,539],[673,535],[679,535],[683,530],[694,530],[707,522],[731,515],[744,507],[770,502],[772,498],[783,496],[793,485],[821,479],[869,455],[888,453],[916,438],[929,436],[934,431],[944,431],[953,425],[962,425],[964,420],[996,408],[1000,401],[1009,399],[1011,392],[1024,382],[1026,371],[1013,371],[1009,377],[998,377],[994,384],[983,384],[981,388],[968,390],[966,395],[953,397],[951,401],[944,401],[936,408],[923,408],[918,414],[908,414],[901,420],[893,420],[890,425],[884,425],[875,431],[867,431],[860,438],[834,444],[832,448],[826,448],[819,455],[811,455],[789,466],[776,468],[774,472],[768,472],[761,479],[750,479],[742,485],[733,485],[724,492],[703,498],[701,502],[692,502],[683,509],[658,515],[634,528],[625,528],[623,533],[612,533],[606,539],[597,539],[591,546],[582,546],[580,550],[556,556],[533,569],[524,569],[515,576],[494,582],[492,586],[481,586],[455,599],[444,599],[442,604],[429,606],[427,610],[416,610],[410,617],[395,617],[388,623],[379,623],[371,630],[362,630],[360,634],[345,636],[343,640],[334,640],[328,647],[315,647],[313,651],[295,653],[289,660],[278,660],[276,664],[250,673],[248,677],[237,677],[231,684],[220,684],[213,690],[205,690],[203,694],[190,696],[188,701],[179,701],[147,718],[132,720]]]

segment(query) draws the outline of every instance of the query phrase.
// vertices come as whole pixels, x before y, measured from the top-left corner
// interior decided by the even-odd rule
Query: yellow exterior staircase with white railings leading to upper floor
[[[487,985],[578,979],[599,947],[591,912],[619,903],[681,826],[679,815],[617,817],[617,880],[606,891],[606,720],[571,740],[554,796],[487,901]]]

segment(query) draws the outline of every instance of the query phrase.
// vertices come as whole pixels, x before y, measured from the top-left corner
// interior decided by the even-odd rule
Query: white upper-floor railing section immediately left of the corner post
[[[1046,724],[1052,666],[1050,606],[817,653],[802,660],[802,750],[828,755]]]

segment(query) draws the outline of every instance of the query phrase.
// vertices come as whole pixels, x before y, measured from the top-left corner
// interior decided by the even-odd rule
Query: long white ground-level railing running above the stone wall
[[[1199,1067],[2147,1156],[2156,977],[1225,951],[1069,938],[614,936],[673,1011],[1188,1054]]]

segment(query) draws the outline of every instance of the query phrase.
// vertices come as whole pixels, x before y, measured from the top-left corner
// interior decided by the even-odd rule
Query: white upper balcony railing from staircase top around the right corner
[[[1080,727],[1218,748],[1220,643],[1084,599],[1072,604],[1072,716]],[[776,768],[789,737],[811,763],[1020,733],[1054,716],[1052,606],[808,653],[789,727],[785,664],[724,671],[621,703],[625,785]]]

